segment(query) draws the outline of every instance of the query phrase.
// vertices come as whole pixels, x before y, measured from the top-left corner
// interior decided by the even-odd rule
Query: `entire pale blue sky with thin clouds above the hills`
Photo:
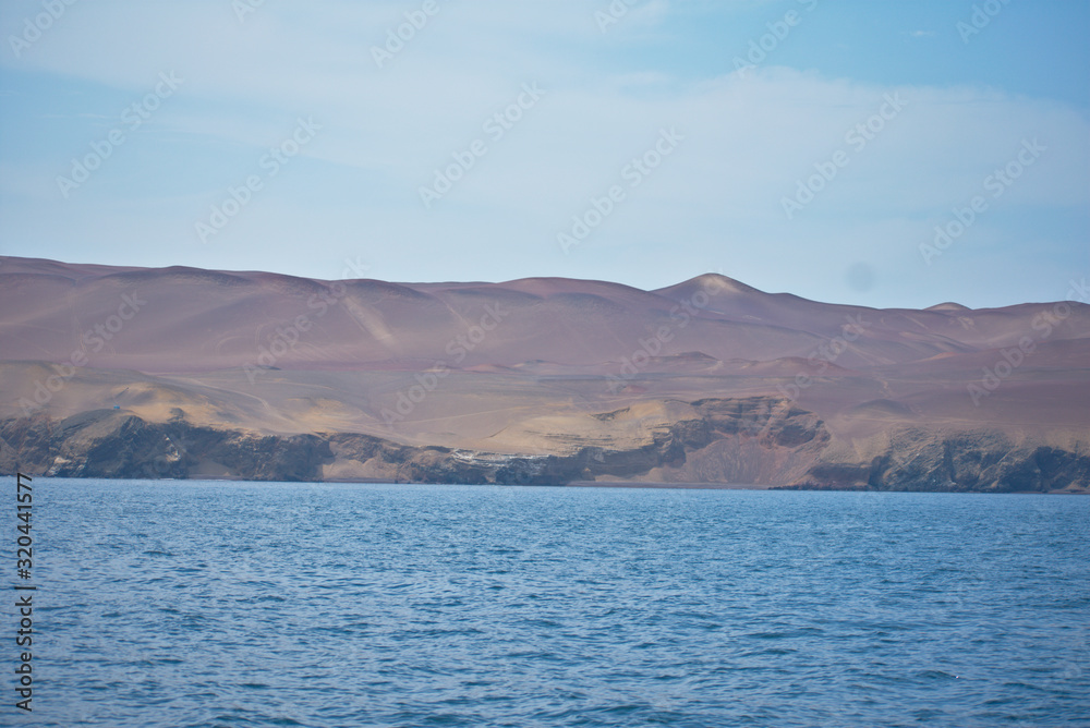
[[[1059,301],[1088,34],[1088,0],[4,0],[0,255]]]

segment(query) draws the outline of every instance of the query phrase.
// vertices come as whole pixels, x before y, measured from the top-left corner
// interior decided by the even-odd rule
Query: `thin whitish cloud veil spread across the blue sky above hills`
[[[12,201],[0,208],[5,239],[85,250],[59,242],[80,239],[112,251],[113,259],[149,260],[162,257],[148,252],[148,241],[158,241],[170,262],[317,276],[323,251],[334,265],[349,250],[367,253],[376,276],[416,280],[540,274],[655,287],[719,260],[716,267],[748,282],[816,298],[858,295],[844,271],[865,262],[884,294],[907,302],[945,275],[897,272],[916,265],[921,236],[1026,136],[1059,151],[1042,157],[1002,209],[1024,220],[1045,211],[1086,215],[1090,125],[1065,104],[983,84],[857,81],[796,68],[806,26],[761,68],[744,77],[731,73],[729,54],[794,2],[735,3],[758,15],[724,46],[718,69],[643,61],[633,48],[649,58],[680,53],[689,26],[678,24],[722,23],[722,7],[637,3],[623,27],[603,36],[594,13],[605,4],[440,3],[380,69],[372,48],[405,22],[413,8],[402,2],[330,2],[320,13],[265,3],[244,23],[215,0],[73,5],[33,53],[0,57],[9,78],[52,80],[45,90],[8,90],[58,123],[56,135],[35,137],[32,147],[2,147],[0,183]],[[5,12],[0,29],[20,17]],[[930,29],[908,35],[936,37]],[[133,135],[77,199],[59,207],[56,175],[164,71],[185,78],[154,119],[156,138],[169,143]],[[87,104],[72,113],[53,110],[51,83],[87,92]],[[424,209],[420,186],[482,137],[483,124],[526,83],[546,96],[440,205]],[[909,99],[904,113],[852,155],[820,198],[785,220],[782,198],[891,93]],[[300,116],[319,122],[322,135],[215,246],[198,246],[193,220]],[[663,128],[686,135],[670,163],[631,191],[635,202],[611,215],[593,241],[559,255],[556,230]],[[993,219],[973,231],[988,245],[960,246],[966,262],[952,260],[949,269],[1016,250],[1026,223],[1004,229],[1002,214]]]

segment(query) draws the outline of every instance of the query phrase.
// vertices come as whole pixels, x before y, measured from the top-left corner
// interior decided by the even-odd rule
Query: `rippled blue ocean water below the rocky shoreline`
[[[34,494],[35,709],[5,604],[2,725],[1090,725],[1088,498]]]

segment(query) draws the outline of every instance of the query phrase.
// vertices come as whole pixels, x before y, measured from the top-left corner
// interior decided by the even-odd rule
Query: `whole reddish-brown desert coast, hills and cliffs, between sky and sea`
[[[1083,303],[0,260],[3,472],[1088,485]],[[262,438],[293,452],[279,470],[240,454]]]

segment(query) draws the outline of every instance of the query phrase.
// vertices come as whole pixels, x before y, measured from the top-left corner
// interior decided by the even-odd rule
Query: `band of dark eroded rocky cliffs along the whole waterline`
[[[1079,492],[1079,444],[1012,441],[1001,433],[901,428],[846,448],[814,413],[772,397],[682,403],[646,436],[609,442],[627,409],[594,413],[602,432],[559,438],[553,453],[412,446],[356,433],[267,435],[145,422],[118,410],[0,422],[0,472],[111,478],[240,478],[564,485],[574,481],[751,484],[881,490]],[[677,411],[677,410],[675,410]],[[619,438],[618,438],[619,441]]]

